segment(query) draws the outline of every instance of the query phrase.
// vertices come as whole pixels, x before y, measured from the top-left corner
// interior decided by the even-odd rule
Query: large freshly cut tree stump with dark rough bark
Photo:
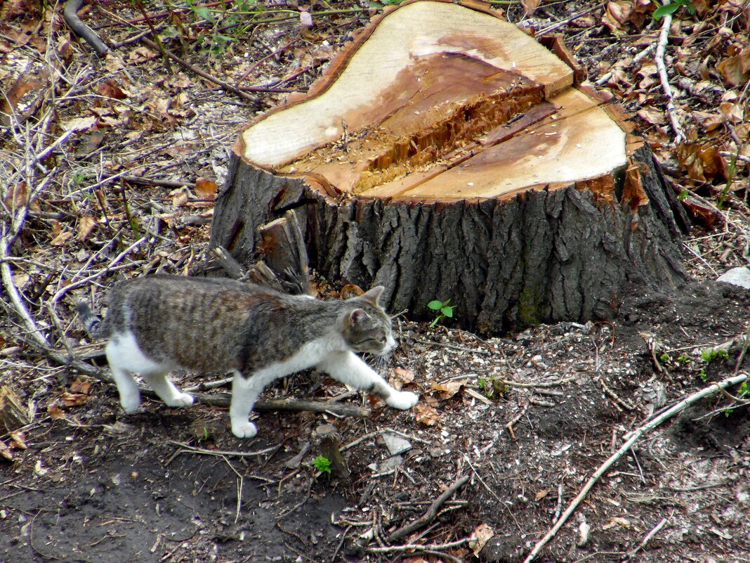
[[[479,2],[404,2],[234,146],[211,241],[257,258],[296,209],[310,266],[493,332],[611,318],[685,281],[685,213],[648,147],[559,41]]]

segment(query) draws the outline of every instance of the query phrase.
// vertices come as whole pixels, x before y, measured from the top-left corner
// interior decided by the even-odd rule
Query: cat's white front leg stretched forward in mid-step
[[[419,396],[410,391],[397,391],[380,377],[370,366],[353,352],[332,354],[317,365],[341,383],[356,387],[382,397],[386,404],[405,411],[419,401]]]

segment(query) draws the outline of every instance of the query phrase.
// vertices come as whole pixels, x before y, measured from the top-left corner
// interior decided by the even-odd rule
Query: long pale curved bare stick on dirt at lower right
[[[640,438],[646,432],[650,432],[652,429],[655,429],[665,420],[670,419],[675,414],[684,410],[686,407],[688,407],[688,405],[692,405],[694,402],[700,401],[700,399],[703,399],[703,397],[705,396],[718,393],[718,390],[720,389],[724,389],[726,387],[731,387],[732,385],[742,383],[742,381],[746,381],[747,378],[748,376],[746,374],[736,375],[733,378],[728,378],[728,379],[725,379],[724,381],[713,383],[709,385],[708,387],[705,387],[704,389],[698,391],[697,393],[693,393],[691,396],[685,397],[685,399],[682,399],[682,401],[676,403],[676,405],[673,405],[672,407],[668,408],[666,411],[662,412],[661,414],[658,414],[658,416],[653,417],[651,420],[649,420],[649,422],[643,424],[642,426],[639,426],[633,432],[630,432],[628,440],[625,441],[625,444],[622,444],[619,450],[613,453],[613,455],[610,456],[607,459],[607,461],[601,464],[599,468],[595,471],[595,473],[592,474],[589,480],[586,481],[586,484],[583,486],[583,488],[580,489],[580,492],[578,492],[576,497],[571,501],[570,504],[568,504],[568,507],[565,509],[565,512],[562,513],[562,516],[560,516],[559,519],[557,519],[557,522],[555,522],[552,528],[550,528],[550,531],[548,531],[547,534],[545,534],[544,537],[542,537],[541,540],[539,540],[535,544],[531,552],[529,552],[529,555],[526,555],[526,558],[523,560],[523,563],[530,563],[531,561],[534,560],[534,558],[539,554],[541,549],[543,549],[544,546],[547,545],[547,543],[549,543],[549,541],[554,537],[557,531],[559,531],[559,529],[562,528],[562,525],[564,525],[565,522],[567,522],[568,518],[571,516],[574,510],[578,507],[578,505],[583,501],[583,498],[586,498],[586,495],[593,488],[593,486],[596,484],[599,478],[602,475],[604,475],[604,473],[606,473],[607,470],[610,467],[612,467],[612,465],[614,465],[614,463],[632,447],[632,445],[638,440],[638,438]]]

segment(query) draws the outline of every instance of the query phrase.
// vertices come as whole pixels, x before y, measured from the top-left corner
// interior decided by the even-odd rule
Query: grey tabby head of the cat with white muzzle
[[[344,340],[356,352],[367,352],[381,356],[396,346],[391,333],[391,318],[386,315],[377,300],[383,294],[383,286],[347,300],[353,306],[344,318]]]

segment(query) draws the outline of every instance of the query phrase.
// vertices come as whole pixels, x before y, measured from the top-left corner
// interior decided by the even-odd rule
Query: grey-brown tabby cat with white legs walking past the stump
[[[140,405],[133,374],[166,405],[185,407],[193,397],[169,372],[233,372],[232,432],[253,438],[257,427],[248,417],[263,388],[312,367],[394,408],[416,405],[415,393],[395,390],[356,355],[395,348],[391,319],[378,305],[382,293],[377,286],[323,301],[225,278],[146,275],[115,285],[104,320],[85,302],[77,310],[92,337],[110,339],[107,362],[125,412]]]

